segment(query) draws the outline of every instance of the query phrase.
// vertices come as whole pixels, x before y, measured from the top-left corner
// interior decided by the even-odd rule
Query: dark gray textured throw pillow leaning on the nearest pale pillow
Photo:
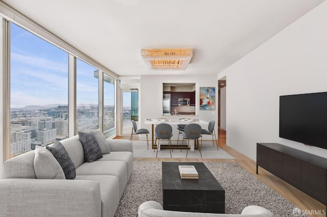
[[[46,149],[48,149],[59,162],[66,179],[75,179],[75,165],[71,157],[69,157],[65,147],[63,147],[63,145],[56,140],[53,146],[46,146]]]

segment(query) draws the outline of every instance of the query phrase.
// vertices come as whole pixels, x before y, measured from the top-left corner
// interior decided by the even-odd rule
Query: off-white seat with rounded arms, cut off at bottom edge
[[[273,217],[273,213],[255,205],[245,207],[241,214],[179,212],[164,210],[158,202],[147,201],[138,207],[138,217]]]

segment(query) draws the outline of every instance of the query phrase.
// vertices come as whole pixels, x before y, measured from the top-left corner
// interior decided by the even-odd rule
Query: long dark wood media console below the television
[[[258,166],[326,205],[327,158],[277,143],[256,144]]]

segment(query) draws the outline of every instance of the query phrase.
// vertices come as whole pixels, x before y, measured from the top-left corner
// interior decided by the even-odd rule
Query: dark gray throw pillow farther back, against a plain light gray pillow
[[[84,157],[87,162],[93,162],[102,157],[101,148],[92,132],[78,132],[78,137],[83,145]]]

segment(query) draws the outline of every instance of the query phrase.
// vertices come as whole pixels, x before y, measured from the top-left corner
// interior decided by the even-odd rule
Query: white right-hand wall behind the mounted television
[[[258,142],[327,156],[325,149],[278,137],[280,95],[327,91],[326,26],[323,2],[218,75],[228,83],[228,146],[254,160]]]

